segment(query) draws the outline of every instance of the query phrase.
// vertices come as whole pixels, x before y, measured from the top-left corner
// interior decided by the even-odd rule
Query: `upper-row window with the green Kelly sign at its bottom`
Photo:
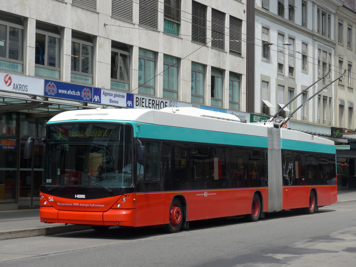
[[[178,35],[181,0],[164,0],[163,31]]]

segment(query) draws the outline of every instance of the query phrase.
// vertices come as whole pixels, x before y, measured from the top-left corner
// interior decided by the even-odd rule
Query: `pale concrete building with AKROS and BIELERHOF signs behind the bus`
[[[1,1],[0,210],[38,207],[43,146],[32,168],[23,144],[58,112],[246,111],[245,11],[246,0]]]

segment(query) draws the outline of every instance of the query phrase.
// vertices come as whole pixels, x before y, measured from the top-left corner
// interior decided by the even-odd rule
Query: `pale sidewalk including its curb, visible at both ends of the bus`
[[[339,189],[337,199],[338,203],[356,201],[356,188]],[[38,209],[0,211],[0,240],[54,235],[87,229],[91,229],[91,227],[84,225],[41,223]]]

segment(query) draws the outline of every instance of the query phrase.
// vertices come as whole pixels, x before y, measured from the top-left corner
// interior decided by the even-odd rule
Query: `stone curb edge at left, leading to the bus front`
[[[71,224],[71,225],[32,227],[32,228],[24,228],[19,230],[4,230],[4,231],[0,231],[0,240],[63,234],[67,232],[82,231],[88,229],[91,229],[91,227],[88,225]]]

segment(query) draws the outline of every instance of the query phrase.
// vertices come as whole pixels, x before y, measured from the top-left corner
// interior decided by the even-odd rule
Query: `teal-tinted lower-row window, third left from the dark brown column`
[[[192,62],[192,102],[204,104],[205,66]]]

